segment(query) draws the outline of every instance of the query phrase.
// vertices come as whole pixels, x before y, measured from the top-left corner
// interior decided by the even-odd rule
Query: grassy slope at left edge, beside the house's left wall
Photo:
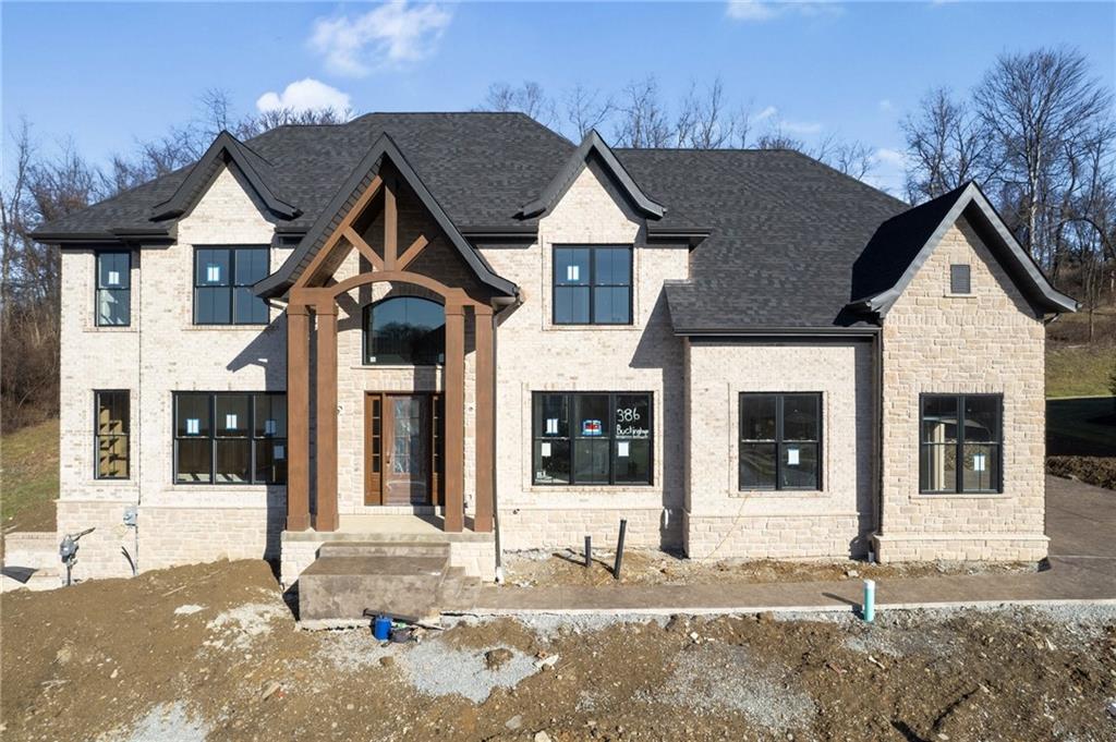
[[[58,498],[58,421],[0,437],[0,520],[4,530],[52,531]]]

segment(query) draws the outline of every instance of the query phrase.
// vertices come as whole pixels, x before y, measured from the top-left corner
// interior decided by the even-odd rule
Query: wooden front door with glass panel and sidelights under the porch
[[[441,395],[365,397],[366,505],[431,505],[441,484]]]

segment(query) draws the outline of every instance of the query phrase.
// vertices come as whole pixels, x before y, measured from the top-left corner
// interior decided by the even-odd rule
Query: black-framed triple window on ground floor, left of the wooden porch
[[[177,484],[286,484],[287,395],[174,394]]]

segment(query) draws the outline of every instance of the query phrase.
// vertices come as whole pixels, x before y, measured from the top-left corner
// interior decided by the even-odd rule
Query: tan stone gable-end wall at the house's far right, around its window
[[[950,296],[952,263],[972,267],[972,296]],[[883,324],[881,559],[1046,556],[1043,343],[1041,315],[959,220]],[[1002,494],[920,494],[923,393],[1003,395]]]

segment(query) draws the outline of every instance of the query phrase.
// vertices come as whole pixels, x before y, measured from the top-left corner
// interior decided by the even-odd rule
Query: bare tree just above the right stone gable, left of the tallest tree
[[[949,193],[994,172],[991,137],[983,121],[944,87],[932,89],[901,123],[906,136],[906,191],[913,203]]]

